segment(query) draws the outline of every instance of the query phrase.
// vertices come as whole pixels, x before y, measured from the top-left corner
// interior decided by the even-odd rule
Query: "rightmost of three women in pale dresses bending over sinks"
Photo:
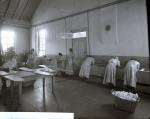
[[[124,69],[124,85],[136,88],[136,72],[139,71],[140,63],[135,60],[128,61]]]

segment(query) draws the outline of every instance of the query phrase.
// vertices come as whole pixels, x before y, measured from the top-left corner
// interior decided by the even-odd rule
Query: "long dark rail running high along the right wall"
[[[53,20],[48,20],[48,21],[45,21],[45,22],[42,22],[42,23],[39,23],[39,24],[35,24],[35,25],[32,25],[32,27],[41,26],[41,25],[48,24],[48,23],[51,23],[51,22],[66,19],[68,17],[77,16],[77,15],[80,15],[80,14],[83,14],[83,13],[91,12],[91,11],[94,11],[94,10],[97,10],[97,9],[105,8],[105,7],[108,7],[108,6],[120,4],[120,3],[123,3],[123,2],[127,2],[127,1],[131,1],[131,0],[117,0],[117,1],[114,1],[114,2],[111,2],[111,3],[107,3],[107,4],[104,4],[104,5],[95,7],[95,8],[91,8],[91,9],[88,9],[88,10],[81,11],[81,12],[78,12],[78,13],[73,13],[73,14],[70,14],[70,15],[67,15],[67,16],[64,16],[64,17],[60,17],[60,18],[56,18],[56,19],[53,19]]]

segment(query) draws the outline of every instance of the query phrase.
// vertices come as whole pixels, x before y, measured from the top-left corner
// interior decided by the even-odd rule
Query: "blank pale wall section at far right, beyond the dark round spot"
[[[119,55],[148,56],[145,5],[145,0],[131,0],[118,5]]]

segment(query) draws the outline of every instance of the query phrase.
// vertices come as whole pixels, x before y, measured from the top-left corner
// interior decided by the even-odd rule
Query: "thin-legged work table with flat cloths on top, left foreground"
[[[26,70],[26,69],[25,69]],[[50,72],[44,72],[44,71],[40,71],[40,69],[38,70],[30,70],[30,71],[19,71],[16,74],[13,75],[9,75],[9,73],[6,72],[0,72],[0,76],[3,76],[5,79],[10,80],[11,81],[11,98],[13,99],[13,92],[14,92],[14,83],[18,83],[19,84],[19,103],[22,97],[22,83],[23,82],[27,82],[27,81],[31,81],[31,80],[36,80],[35,78],[27,80],[26,77],[30,77],[30,76],[42,76],[43,79],[43,96],[45,97],[45,78],[46,77],[51,77],[52,78],[52,94],[54,94],[54,90],[53,90],[53,79],[55,76],[55,73],[50,73]]]

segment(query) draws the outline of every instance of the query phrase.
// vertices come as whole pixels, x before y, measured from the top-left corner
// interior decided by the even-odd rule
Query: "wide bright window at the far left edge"
[[[6,52],[9,47],[15,46],[15,33],[13,31],[1,32],[1,43],[3,51]]]

